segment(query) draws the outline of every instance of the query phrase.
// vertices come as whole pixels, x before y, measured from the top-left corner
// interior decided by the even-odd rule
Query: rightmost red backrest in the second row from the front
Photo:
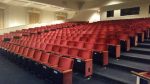
[[[83,59],[92,59],[92,51],[90,50],[80,50],[79,51],[79,57]]]

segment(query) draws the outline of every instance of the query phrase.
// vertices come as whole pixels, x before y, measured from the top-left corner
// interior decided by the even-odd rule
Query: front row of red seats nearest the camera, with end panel
[[[39,69],[36,68],[39,67],[38,65],[45,66],[46,68],[41,67],[38,71],[48,72],[47,75],[52,77],[52,81],[56,84],[72,84],[72,59],[11,43],[6,43],[6,45],[4,49],[7,50],[7,55],[10,57],[11,54],[13,58],[16,56],[15,61],[23,62],[24,65],[34,70]],[[61,79],[58,79],[59,77]]]

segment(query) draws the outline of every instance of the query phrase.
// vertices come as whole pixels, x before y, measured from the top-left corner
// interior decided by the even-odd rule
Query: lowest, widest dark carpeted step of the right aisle
[[[107,67],[104,69],[94,65],[94,74],[119,82],[110,84],[135,84],[136,81],[136,77],[130,72],[118,68]]]

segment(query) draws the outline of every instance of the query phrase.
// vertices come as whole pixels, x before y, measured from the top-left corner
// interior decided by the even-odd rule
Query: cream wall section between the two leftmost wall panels
[[[4,27],[14,27],[27,24],[27,9],[24,7],[8,6],[4,10]]]

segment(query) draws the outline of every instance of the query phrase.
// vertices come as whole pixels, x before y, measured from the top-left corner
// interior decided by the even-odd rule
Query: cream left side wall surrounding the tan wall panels
[[[0,29],[0,35],[4,33],[9,33],[10,31],[20,30],[23,28],[37,27],[63,22],[56,21],[55,12],[38,10],[40,13],[40,23],[30,25],[28,12],[30,12],[31,10],[29,8],[5,5],[1,3],[0,8],[4,9],[4,28]],[[68,18],[72,18],[73,13],[69,13],[68,16]]]

